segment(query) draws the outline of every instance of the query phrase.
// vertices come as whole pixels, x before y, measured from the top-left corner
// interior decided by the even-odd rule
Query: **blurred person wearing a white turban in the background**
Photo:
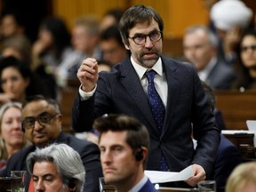
[[[218,1],[212,5],[210,17],[219,36],[218,55],[233,65],[241,36],[252,23],[252,9],[241,0]]]

